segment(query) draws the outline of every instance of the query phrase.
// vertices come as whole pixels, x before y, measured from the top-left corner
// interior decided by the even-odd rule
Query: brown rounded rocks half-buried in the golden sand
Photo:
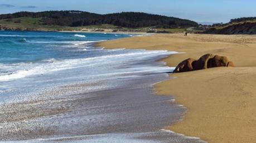
[[[234,67],[234,63],[230,62],[227,57],[213,54],[205,54],[198,60],[189,58],[183,60],[177,65],[173,73],[190,72],[193,70],[201,70],[215,67]]]

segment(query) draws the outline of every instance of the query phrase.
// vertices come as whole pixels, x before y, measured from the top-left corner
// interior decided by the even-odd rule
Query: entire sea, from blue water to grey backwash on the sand
[[[200,142],[162,131],[185,112],[152,88],[176,52],[94,47],[132,36],[0,31],[0,141]]]

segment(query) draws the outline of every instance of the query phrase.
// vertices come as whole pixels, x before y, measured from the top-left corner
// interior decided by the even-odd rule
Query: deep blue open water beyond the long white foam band
[[[81,50],[82,44],[129,37],[125,34],[60,33],[60,32],[0,32],[0,63],[27,63],[40,60],[93,57]],[[81,46],[80,46],[81,47]],[[84,50],[86,47],[84,48]]]

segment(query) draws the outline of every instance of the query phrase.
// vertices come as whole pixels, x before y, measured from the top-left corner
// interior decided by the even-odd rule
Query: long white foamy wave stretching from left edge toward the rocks
[[[119,49],[123,50],[123,49]],[[43,75],[49,72],[56,72],[60,70],[68,70],[68,69],[75,69],[81,67],[91,67],[91,66],[100,66],[105,64],[117,63],[122,62],[122,60],[126,59],[144,59],[150,56],[156,55],[168,55],[168,54],[175,54],[177,52],[167,52],[167,50],[139,50],[134,51],[131,53],[118,53],[112,55],[102,55],[98,57],[90,57],[90,58],[78,58],[78,59],[65,59],[65,60],[56,60],[56,59],[46,59],[42,60],[38,63],[20,63],[20,64],[10,64],[10,65],[3,65],[3,69],[9,69],[12,71],[11,73],[1,75],[0,81],[8,81],[8,80],[15,80],[25,78],[27,76],[32,75]],[[122,58],[120,58],[122,57]],[[102,66],[103,66],[102,65]],[[142,69],[137,69],[142,70]],[[151,71],[154,69],[144,69],[143,71]],[[132,72],[132,71],[131,71]],[[116,73],[116,74],[124,74],[123,73]]]

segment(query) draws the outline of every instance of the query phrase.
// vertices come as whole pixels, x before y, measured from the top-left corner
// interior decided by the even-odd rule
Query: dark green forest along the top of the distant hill
[[[187,19],[160,16],[141,12],[122,12],[112,14],[96,14],[83,11],[45,11],[45,12],[17,12],[1,14],[0,19],[32,17],[42,18],[46,25],[61,25],[79,27],[85,25],[113,24],[119,27],[139,28],[187,28],[198,24]]]

